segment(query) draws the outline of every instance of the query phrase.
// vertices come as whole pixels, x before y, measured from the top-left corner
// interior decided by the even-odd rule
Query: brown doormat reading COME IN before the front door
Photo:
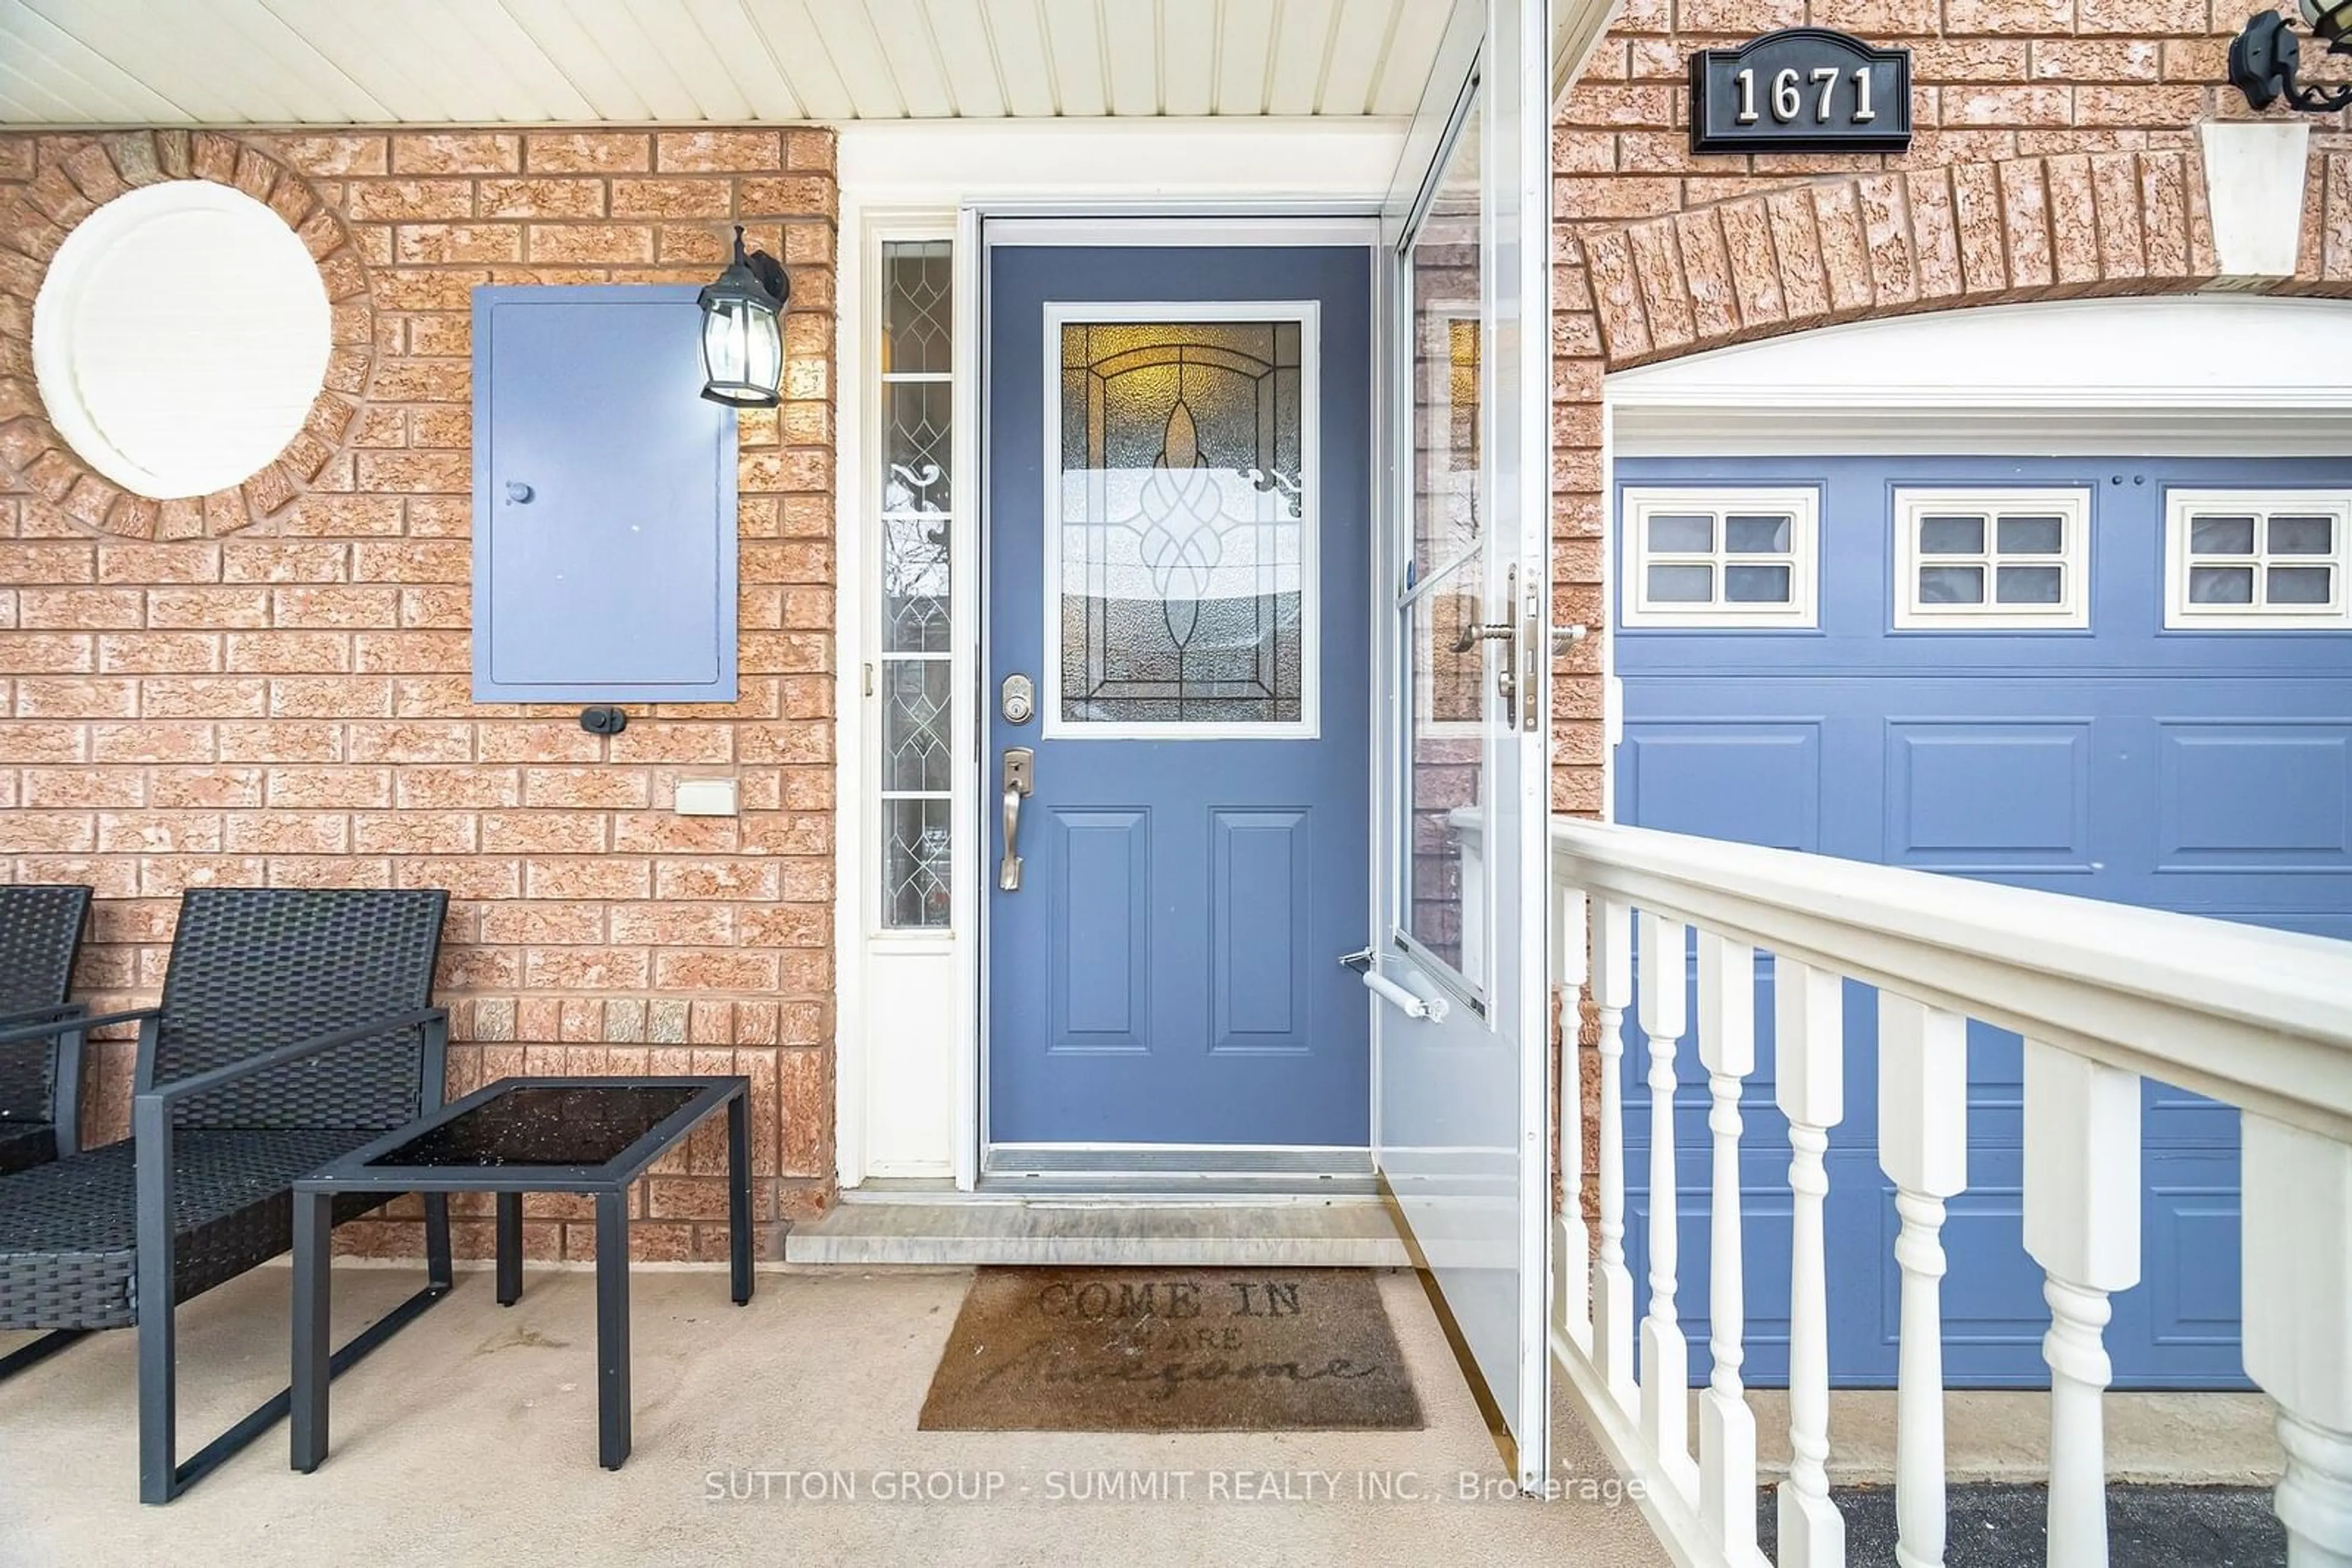
[[[981,1269],[924,1432],[1409,1432],[1367,1269]]]

